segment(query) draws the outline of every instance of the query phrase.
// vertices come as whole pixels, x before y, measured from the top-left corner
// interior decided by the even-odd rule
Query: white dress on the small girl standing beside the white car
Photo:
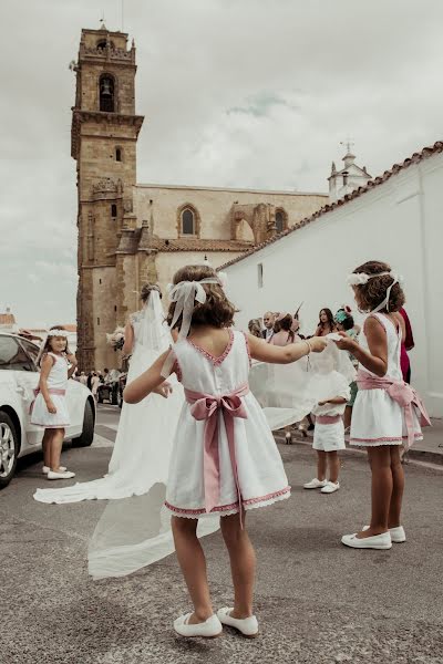
[[[31,424],[43,426],[44,428],[63,428],[70,425],[65,392],[68,390],[68,360],[55,353],[48,353],[54,363],[47,380],[51,401],[56,408],[56,413],[48,411],[43,394],[38,393],[31,408]]]

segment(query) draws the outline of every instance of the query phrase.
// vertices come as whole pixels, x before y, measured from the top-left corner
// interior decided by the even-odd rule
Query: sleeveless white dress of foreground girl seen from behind
[[[174,346],[176,372],[185,391],[220,397],[247,385],[250,367],[248,343],[243,332],[229,331],[229,343],[220,357],[199,349],[190,340]],[[289,498],[290,487],[280,454],[256,397],[241,396],[246,418],[234,417],[234,448],[239,494],[245,509]],[[229,456],[225,421],[218,417],[219,499],[212,512],[239,511],[238,491]],[[205,421],[197,421],[189,403],[182,408],[173,444],[166,489],[166,508],[175,516],[207,516],[204,483]]]

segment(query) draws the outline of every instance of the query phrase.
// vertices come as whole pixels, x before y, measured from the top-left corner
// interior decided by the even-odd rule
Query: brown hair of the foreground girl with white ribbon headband
[[[181,281],[202,281],[202,279],[218,279],[217,272],[209,266],[185,266],[174,274],[174,286]],[[192,325],[213,325],[214,328],[230,328],[234,324],[234,314],[237,309],[227,299],[222,283],[203,283],[206,291],[206,301],[196,302],[193,310]],[[166,321],[171,325],[174,318],[175,302],[169,304]],[[182,317],[174,328],[182,325]]]

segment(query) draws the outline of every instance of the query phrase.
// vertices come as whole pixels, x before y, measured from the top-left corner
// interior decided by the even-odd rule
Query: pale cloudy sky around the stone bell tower
[[[442,0],[123,0],[145,115],[137,181],[327,191],[442,139]],[[75,321],[71,106],[82,28],[122,0],[1,0],[0,312]],[[315,251],[315,248],[312,248]]]

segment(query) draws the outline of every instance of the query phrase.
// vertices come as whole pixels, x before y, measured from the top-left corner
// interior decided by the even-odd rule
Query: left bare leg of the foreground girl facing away
[[[205,622],[214,613],[206,559],[196,535],[197,522],[197,519],[172,518],[175,550],[194,604],[194,614],[189,619],[189,624]]]

